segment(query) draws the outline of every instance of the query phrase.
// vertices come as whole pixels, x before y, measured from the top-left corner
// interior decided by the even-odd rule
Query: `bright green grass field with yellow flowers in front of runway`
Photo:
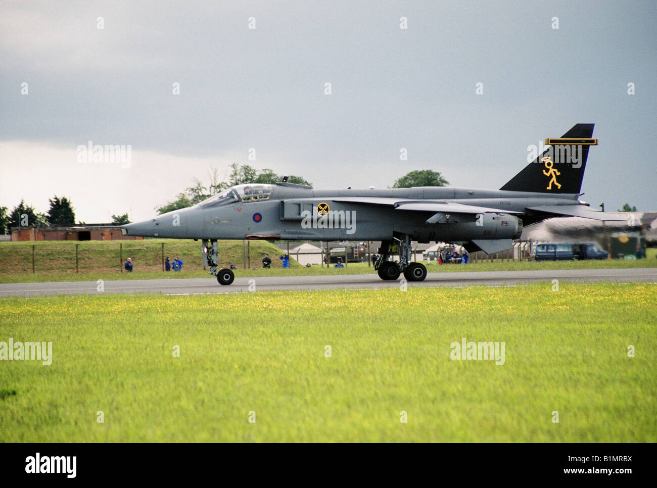
[[[2,299],[53,363],[0,361],[0,441],[655,442],[656,324],[654,284]]]

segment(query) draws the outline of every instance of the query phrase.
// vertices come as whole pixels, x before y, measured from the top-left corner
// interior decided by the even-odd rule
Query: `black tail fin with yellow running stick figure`
[[[591,139],[593,123],[578,123],[561,139]],[[589,145],[548,145],[525,169],[509,180],[500,190],[577,193],[581,190]]]

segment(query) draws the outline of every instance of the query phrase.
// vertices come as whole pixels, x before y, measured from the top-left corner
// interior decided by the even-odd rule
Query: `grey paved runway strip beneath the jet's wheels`
[[[552,280],[577,282],[651,282],[657,283],[657,268],[566,269],[547,271],[464,271],[429,273],[413,286],[512,286]],[[72,294],[97,294],[95,281],[0,284],[0,298]],[[383,281],[377,275],[294,276],[240,278],[230,286],[220,286],[208,278],[173,278],[164,280],[112,280],[103,283],[102,293],[160,293],[170,295],[268,292],[273,290],[358,290],[399,288],[401,280]]]

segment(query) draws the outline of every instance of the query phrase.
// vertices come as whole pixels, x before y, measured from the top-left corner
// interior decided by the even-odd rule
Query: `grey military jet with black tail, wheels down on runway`
[[[499,190],[452,187],[317,190],[304,185],[237,185],[189,208],[122,227],[131,236],[201,240],[205,267],[220,284],[218,239],[380,240],[374,269],[383,280],[426,278],[411,241],[461,244],[468,252],[507,250],[523,226],[551,217],[618,220],[579,200],[592,123],[578,123]]]

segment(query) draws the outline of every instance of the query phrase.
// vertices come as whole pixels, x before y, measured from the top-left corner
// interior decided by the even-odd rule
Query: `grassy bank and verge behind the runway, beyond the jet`
[[[35,273],[32,273],[32,244],[35,245]],[[76,244],[78,269],[76,273]],[[132,240],[123,243],[123,260],[120,259],[119,242],[116,241],[47,241],[0,243],[0,283],[135,280],[154,278],[207,278],[200,254],[200,242],[176,239]],[[185,262],[181,273],[162,271],[162,244],[165,256],[180,256]],[[290,268],[281,267],[278,256],[281,250],[265,241],[251,241],[250,269],[244,269],[242,241],[220,241],[221,265],[235,263],[236,277],[344,275],[375,273],[367,263],[348,263],[345,269],[313,265],[306,268],[290,259]],[[293,247],[293,245],[290,245]],[[265,252],[272,258],[271,269],[260,269]],[[133,273],[122,273],[120,263],[131,257],[135,264]],[[657,249],[648,248],[646,259],[604,259],[601,261],[480,261],[468,265],[427,265],[430,273],[454,271],[522,271],[532,269],[593,269],[657,267]],[[248,263],[247,263],[248,265]],[[255,268],[255,269],[254,269]]]

